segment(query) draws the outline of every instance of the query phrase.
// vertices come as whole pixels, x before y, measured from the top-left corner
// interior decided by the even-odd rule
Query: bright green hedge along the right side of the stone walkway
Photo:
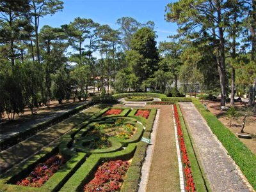
[[[215,115],[205,109],[204,105],[195,98],[192,99],[195,107],[203,115],[207,124],[221,144],[227,149],[228,154],[236,161],[252,187],[256,189],[256,155],[246,147]]]

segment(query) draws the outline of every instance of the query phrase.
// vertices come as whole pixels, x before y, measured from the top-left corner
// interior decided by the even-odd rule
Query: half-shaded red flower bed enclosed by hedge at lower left
[[[60,166],[65,163],[60,156],[52,156],[44,163],[39,163],[28,177],[18,181],[16,184],[20,186],[31,186],[40,188],[50,178]]]

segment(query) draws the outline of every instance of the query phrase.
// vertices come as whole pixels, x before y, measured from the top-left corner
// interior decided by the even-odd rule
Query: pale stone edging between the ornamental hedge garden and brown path
[[[141,168],[141,181],[139,184],[138,192],[145,192],[147,189],[150,165],[152,162],[154,146],[156,143],[156,133],[157,133],[158,122],[159,122],[159,114],[160,114],[160,109],[157,109],[156,119],[153,124],[152,133],[150,134],[150,139],[151,139],[150,145],[148,145],[148,147],[147,147],[145,161],[143,162],[143,165]]]

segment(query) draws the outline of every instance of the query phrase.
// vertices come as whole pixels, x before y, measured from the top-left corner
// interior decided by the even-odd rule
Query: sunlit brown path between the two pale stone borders
[[[145,108],[161,109],[147,192],[180,191],[172,105],[146,105]]]

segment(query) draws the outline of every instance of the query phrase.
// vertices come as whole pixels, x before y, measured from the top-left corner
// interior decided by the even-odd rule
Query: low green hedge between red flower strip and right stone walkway
[[[209,183],[208,183],[208,181],[206,181],[204,172],[202,172],[202,170],[203,170],[202,165],[201,165],[199,159],[196,158],[196,153],[195,153],[194,147],[193,147],[193,145],[194,145],[193,140],[189,136],[189,131],[184,122],[184,118],[183,118],[182,112],[180,110],[179,103],[176,103],[176,107],[177,107],[177,111],[179,114],[180,126],[182,129],[184,142],[185,142],[186,149],[188,152],[188,158],[189,158],[189,162],[190,162],[190,166],[191,166],[191,171],[193,173],[193,179],[195,182],[196,191],[198,191],[198,192],[210,191]]]

